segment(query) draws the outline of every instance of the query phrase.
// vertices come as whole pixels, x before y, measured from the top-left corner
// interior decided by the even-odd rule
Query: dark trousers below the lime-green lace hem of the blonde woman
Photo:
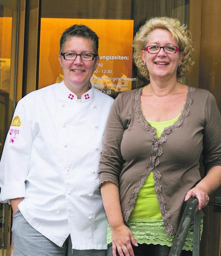
[[[138,244],[132,246],[135,256],[168,256],[171,247],[166,245]],[[119,256],[119,254],[117,253]],[[112,256],[112,243],[107,246],[107,256]],[[192,256],[192,251],[182,250],[180,256]]]

